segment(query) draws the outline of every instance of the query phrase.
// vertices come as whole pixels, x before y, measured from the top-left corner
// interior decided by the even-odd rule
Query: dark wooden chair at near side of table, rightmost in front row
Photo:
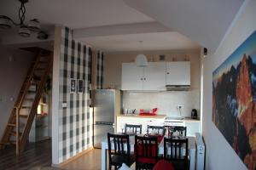
[[[164,139],[164,159],[172,161],[175,170],[189,169],[188,139]]]

